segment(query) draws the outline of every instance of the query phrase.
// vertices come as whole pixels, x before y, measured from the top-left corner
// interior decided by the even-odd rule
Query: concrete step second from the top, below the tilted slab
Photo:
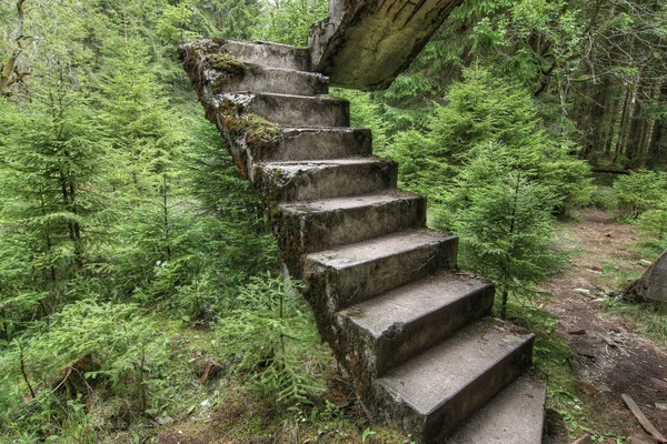
[[[329,91],[329,81],[316,72],[285,68],[248,65],[245,75],[233,75],[219,85],[220,92],[268,92],[275,94],[318,95]]]

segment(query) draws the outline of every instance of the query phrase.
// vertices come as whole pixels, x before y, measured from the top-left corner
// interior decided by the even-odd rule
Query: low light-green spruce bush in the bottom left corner
[[[10,344],[0,360],[6,427],[40,431],[42,437],[59,428],[71,433],[73,421],[86,428],[82,402],[92,401],[93,390],[123,400],[126,415],[160,406],[171,390],[161,383],[169,344],[155,319],[139,310],[92,300],[71,303],[24,342]]]

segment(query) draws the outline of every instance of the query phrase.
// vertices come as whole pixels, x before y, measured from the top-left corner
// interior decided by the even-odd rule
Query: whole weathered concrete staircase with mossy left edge
[[[203,40],[181,54],[371,416],[422,443],[540,443],[534,335],[487,317],[492,285],[457,270],[457,238],[426,228],[425,198],[396,188],[396,162],[323,95],[308,50]]]

